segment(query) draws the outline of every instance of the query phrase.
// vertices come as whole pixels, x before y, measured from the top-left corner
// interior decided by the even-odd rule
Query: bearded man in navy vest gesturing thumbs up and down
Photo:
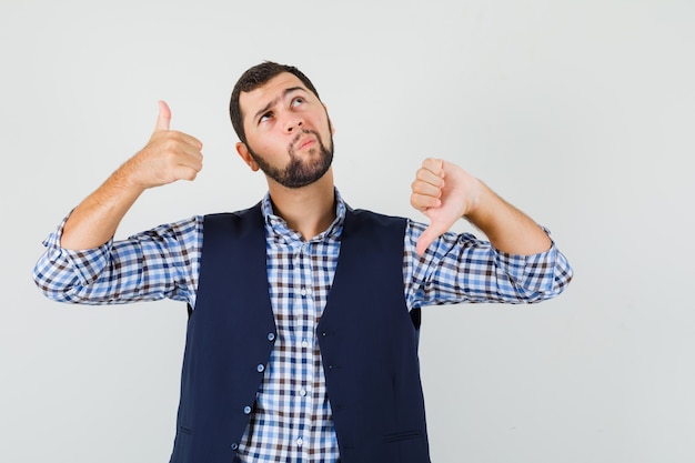
[[[47,239],[38,286],[62,302],[189,304],[172,462],[429,462],[420,308],[546,300],[570,264],[447,161],[425,160],[412,183],[429,225],[349,208],[331,120],[293,67],[244,72],[230,113],[239,155],[268,180],[259,204],[113,242],[144,190],[202,168],[202,143],[169,130],[161,102],[149,143]],[[449,232],[461,218],[490,241]]]

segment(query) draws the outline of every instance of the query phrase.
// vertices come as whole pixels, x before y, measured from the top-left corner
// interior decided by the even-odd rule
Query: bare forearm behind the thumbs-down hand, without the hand
[[[533,255],[551,249],[551,239],[530,217],[481,182],[475,207],[465,218],[495,246],[510,254]]]

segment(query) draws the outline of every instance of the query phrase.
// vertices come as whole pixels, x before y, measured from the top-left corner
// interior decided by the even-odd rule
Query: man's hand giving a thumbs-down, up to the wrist
[[[430,218],[415,250],[422,255],[440,235],[476,205],[481,182],[460,167],[441,159],[426,159],[415,174],[411,204]]]

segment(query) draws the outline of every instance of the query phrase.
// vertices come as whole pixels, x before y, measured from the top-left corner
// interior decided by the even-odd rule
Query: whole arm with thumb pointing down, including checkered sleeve
[[[556,296],[573,278],[547,230],[446,161],[427,159],[411,202],[430,224],[410,222],[404,281],[410,308],[459,302],[533,303]],[[490,241],[449,232],[460,218]]]

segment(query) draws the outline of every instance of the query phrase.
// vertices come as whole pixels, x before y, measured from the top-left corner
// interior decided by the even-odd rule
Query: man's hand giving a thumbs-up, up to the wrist
[[[129,178],[140,188],[148,189],[178,180],[193,180],[203,167],[200,140],[170,130],[171,110],[159,102],[159,115],[148,144],[131,158],[124,168]]]

